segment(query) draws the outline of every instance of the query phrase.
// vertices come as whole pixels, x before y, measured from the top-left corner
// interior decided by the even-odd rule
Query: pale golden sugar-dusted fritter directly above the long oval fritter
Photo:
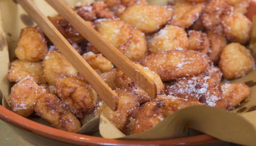
[[[189,42],[185,29],[173,25],[166,25],[148,41],[148,49],[151,53],[185,50],[188,46]]]

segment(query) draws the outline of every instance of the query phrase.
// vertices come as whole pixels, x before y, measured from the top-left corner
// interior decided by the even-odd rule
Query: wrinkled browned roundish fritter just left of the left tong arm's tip
[[[58,97],[78,117],[83,118],[92,113],[97,103],[97,93],[84,80],[65,77],[56,83]]]

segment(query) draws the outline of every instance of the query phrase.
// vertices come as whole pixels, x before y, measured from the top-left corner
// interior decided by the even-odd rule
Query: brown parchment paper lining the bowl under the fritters
[[[75,5],[79,0],[65,0],[69,5]],[[156,3],[157,1],[154,1]],[[39,9],[45,15],[56,15],[56,12],[50,8],[45,1],[35,1]],[[163,1],[161,1],[163,3]],[[2,104],[8,108],[10,99],[10,83],[6,79],[8,72],[9,56],[10,60],[14,59],[14,49],[17,46],[20,29],[27,25],[35,25],[28,17],[24,10],[13,1],[1,0],[0,10],[4,20],[4,30],[7,34],[6,46],[5,34],[0,24],[0,99],[3,98]],[[21,21],[21,17],[25,21]],[[253,18],[252,39],[250,50],[253,57],[256,58],[256,17]],[[10,55],[8,54],[8,51]],[[251,95],[244,100],[235,110],[231,112],[223,109],[195,106],[182,109],[164,119],[151,130],[138,135],[125,136],[119,131],[107,118],[98,115],[90,122],[85,124],[78,133],[91,134],[99,131],[104,138],[118,138],[129,140],[154,140],[177,138],[187,136],[187,127],[204,132],[208,135],[219,138],[223,141],[239,143],[243,145],[255,145],[256,143],[256,70],[250,72],[245,77],[234,82],[246,83],[251,88]],[[1,94],[3,93],[3,94]],[[30,118],[31,119],[31,118]],[[37,121],[40,122],[40,121]],[[43,121],[41,121],[43,122]],[[41,123],[40,122],[40,123]]]

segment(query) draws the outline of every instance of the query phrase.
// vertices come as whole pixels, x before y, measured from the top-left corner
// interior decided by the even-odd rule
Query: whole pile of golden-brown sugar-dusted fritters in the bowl
[[[22,29],[10,64],[10,109],[36,113],[53,127],[75,132],[102,114],[126,135],[145,132],[192,105],[232,110],[250,95],[243,83],[255,60],[245,45],[252,22],[249,0],[104,0],[74,11],[135,63],[157,85],[151,99],[61,16],[48,17],[102,79],[118,94],[113,112],[38,27]],[[79,121],[80,120],[80,121]]]

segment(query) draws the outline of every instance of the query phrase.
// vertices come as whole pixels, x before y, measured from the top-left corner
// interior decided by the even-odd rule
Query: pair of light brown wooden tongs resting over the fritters
[[[134,65],[112,44],[106,41],[93,27],[76,14],[69,6],[61,0],[46,0],[64,19],[68,22],[94,47],[114,65],[123,71],[132,81],[138,84],[148,95],[154,99],[157,96],[155,82],[143,71]],[[71,44],[62,36],[54,25],[41,13],[31,0],[18,0],[25,11],[43,30],[46,36],[55,44],[67,60],[84,77],[99,97],[115,111],[118,107],[117,94],[101,79],[101,77],[90,67],[90,65],[79,55]]]

